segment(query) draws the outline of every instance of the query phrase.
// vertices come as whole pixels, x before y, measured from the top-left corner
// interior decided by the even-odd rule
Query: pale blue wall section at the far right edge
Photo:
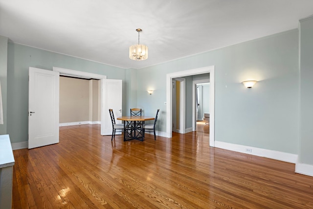
[[[313,165],[313,16],[300,21],[299,163]]]

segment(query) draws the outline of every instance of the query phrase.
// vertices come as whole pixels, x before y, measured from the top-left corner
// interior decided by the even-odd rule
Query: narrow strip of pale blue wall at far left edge
[[[7,52],[8,38],[0,36],[0,84],[2,96],[3,124],[0,124],[0,135],[7,134],[6,97],[7,97]]]

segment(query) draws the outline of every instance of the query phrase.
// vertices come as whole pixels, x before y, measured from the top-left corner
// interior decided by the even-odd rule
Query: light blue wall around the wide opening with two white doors
[[[7,69],[7,133],[11,143],[27,141],[28,135],[28,68],[52,70],[52,67],[107,75],[123,80],[123,92],[128,85],[125,69],[58,54],[29,46],[8,43]],[[123,109],[127,101],[123,94]]]

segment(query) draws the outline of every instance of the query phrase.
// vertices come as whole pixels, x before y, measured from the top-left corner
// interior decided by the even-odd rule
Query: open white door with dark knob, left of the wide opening
[[[59,142],[59,72],[29,67],[28,149]]]

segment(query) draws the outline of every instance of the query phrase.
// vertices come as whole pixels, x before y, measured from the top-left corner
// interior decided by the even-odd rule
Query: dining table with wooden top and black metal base
[[[153,116],[120,116],[118,120],[124,121],[124,141],[139,140],[144,141],[143,125],[147,120],[154,120]]]

